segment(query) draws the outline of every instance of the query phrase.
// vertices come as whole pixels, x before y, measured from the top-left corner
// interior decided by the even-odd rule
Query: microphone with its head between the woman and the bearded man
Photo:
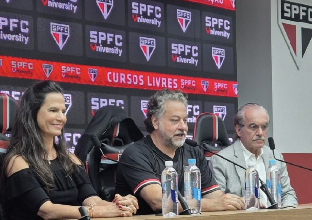
[[[114,160],[114,159],[108,158],[107,156],[104,155],[104,153],[103,153],[103,151],[102,151],[102,149],[101,149],[102,143],[101,143],[101,141],[99,140],[99,138],[98,138],[95,134],[91,134],[91,135],[90,135],[90,139],[91,139],[91,141],[93,142],[94,146],[100,149],[101,154],[102,154],[102,156],[103,156],[105,159],[111,160],[111,161],[116,162],[116,163],[124,164],[124,165],[126,165],[126,166],[132,167],[132,168],[137,169],[137,170],[149,172],[149,173],[152,173],[152,174],[154,174],[154,175],[156,175],[156,176],[160,176],[160,177],[161,177],[161,174],[157,174],[157,173],[155,173],[155,172],[151,172],[151,171],[146,170],[146,169],[143,169],[143,168],[135,167],[135,166],[133,166],[133,165],[131,165],[131,164],[129,164],[129,163],[124,163],[124,162],[121,162],[121,161],[118,161],[118,160]],[[182,206],[182,208],[183,208],[183,211],[182,211],[181,213],[179,213],[179,215],[191,215],[191,214],[192,214],[192,213],[191,213],[191,209],[190,209],[190,208],[188,207],[188,205],[186,204],[186,202],[185,202],[184,198],[182,197],[182,195],[181,195],[181,193],[180,193],[179,190],[178,190],[178,200],[180,201],[181,206]]]

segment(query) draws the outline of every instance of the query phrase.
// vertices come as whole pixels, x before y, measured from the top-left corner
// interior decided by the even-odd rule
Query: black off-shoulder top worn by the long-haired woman
[[[58,158],[50,163],[54,187],[48,193],[45,183],[32,168],[22,169],[7,178],[6,211],[10,220],[42,220],[37,212],[49,200],[54,204],[81,206],[86,198],[97,196],[82,165],[68,176]]]

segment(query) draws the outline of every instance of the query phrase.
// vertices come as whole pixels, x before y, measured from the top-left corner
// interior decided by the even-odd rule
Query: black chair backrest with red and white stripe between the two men
[[[197,116],[193,140],[215,153],[231,144],[222,118],[212,113],[201,113]],[[210,159],[212,154],[205,151],[205,156]]]

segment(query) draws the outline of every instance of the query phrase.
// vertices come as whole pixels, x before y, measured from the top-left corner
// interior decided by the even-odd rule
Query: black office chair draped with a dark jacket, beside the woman
[[[134,121],[124,110],[116,106],[100,108],[79,138],[75,154],[83,162],[95,191],[103,200],[112,201],[115,196],[117,163],[106,159],[90,136],[96,135],[101,142],[103,154],[119,160],[122,152],[143,137]]]

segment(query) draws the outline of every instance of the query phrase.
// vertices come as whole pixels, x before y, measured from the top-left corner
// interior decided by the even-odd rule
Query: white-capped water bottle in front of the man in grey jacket
[[[259,174],[254,168],[254,163],[248,164],[245,178],[245,209],[257,210],[260,209],[260,191],[259,191]]]

